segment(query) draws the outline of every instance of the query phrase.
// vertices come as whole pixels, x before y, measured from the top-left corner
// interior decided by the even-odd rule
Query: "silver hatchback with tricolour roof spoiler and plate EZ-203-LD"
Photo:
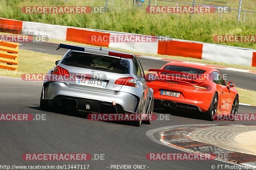
[[[136,114],[150,124],[153,113],[153,90],[145,77],[138,57],[107,48],[59,44],[68,51],[48,71],[40,99],[40,109],[62,107],[87,113]]]

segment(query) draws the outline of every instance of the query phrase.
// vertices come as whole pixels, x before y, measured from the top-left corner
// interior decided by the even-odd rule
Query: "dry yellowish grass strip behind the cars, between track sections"
[[[45,74],[55,66],[55,61],[60,60],[60,55],[42,54],[28,50],[19,50],[18,71],[0,69],[0,76],[21,78],[22,74]],[[256,106],[256,92],[237,88],[240,102]]]

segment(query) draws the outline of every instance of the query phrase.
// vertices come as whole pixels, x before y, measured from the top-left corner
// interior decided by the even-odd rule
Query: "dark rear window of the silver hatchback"
[[[79,52],[72,52],[71,56],[67,56],[64,58],[62,64],[85,69],[101,70],[119,74],[129,74],[128,60],[107,56],[90,55]]]

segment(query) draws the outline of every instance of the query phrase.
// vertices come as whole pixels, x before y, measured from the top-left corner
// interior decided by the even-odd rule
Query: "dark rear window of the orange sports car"
[[[205,73],[205,70],[196,69],[193,67],[178,66],[178,65],[167,65],[164,67],[164,70],[178,71],[178,72],[188,73],[188,74],[204,74]]]

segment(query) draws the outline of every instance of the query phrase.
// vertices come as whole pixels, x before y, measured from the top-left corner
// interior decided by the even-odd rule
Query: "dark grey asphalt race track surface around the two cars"
[[[21,49],[63,55],[56,45],[23,43]],[[165,61],[140,58],[145,70],[160,68]],[[154,64],[153,64],[154,63]],[[255,90],[256,76],[250,73],[221,70],[236,86]],[[241,77],[239,76],[241,75]],[[170,120],[152,121],[151,125],[130,126],[125,122],[90,121],[83,114],[52,113],[39,109],[43,82],[0,77],[1,113],[45,114],[46,120],[0,122],[0,160],[5,165],[90,165],[89,169],[111,169],[111,165],[146,165],[145,169],[212,169],[212,165],[230,165],[218,160],[147,160],[147,153],[181,153],[158,144],[146,132],[173,125],[186,124],[255,124],[255,121],[205,121],[199,115],[166,112],[155,109],[156,115],[170,115]],[[256,113],[256,107],[239,106],[239,113]],[[154,135],[160,135],[161,131]],[[104,160],[90,161],[24,161],[24,153],[90,153],[104,154]],[[142,166],[143,167],[143,166]],[[113,168],[112,168],[113,169]],[[217,168],[215,168],[217,169]]]

